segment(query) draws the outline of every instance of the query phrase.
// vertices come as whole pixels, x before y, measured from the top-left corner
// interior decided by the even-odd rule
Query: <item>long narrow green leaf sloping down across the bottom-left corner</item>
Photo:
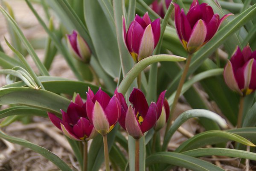
[[[0,137],[6,139],[9,142],[22,145],[23,147],[30,148],[38,154],[41,154],[45,158],[49,159],[53,164],[55,164],[61,171],[72,171],[72,169],[58,156],[53,154],[51,151],[43,148],[39,145],[33,144],[32,142],[26,141],[24,139],[15,138],[13,136],[8,136],[2,131],[0,131]]]

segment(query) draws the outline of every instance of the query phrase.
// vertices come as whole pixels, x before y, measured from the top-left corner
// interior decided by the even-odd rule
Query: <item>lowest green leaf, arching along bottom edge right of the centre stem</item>
[[[193,171],[224,171],[212,163],[206,162],[195,157],[174,152],[160,152],[147,157],[146,165],[150,166],[156,163],[167,163],[169,165],[188,168]]]

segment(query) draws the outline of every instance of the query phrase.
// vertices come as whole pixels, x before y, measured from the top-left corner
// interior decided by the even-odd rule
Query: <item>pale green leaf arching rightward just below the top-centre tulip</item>
[[[175,55],[152,55],[148,58],[144,58],[143,60],[139,61],[134,67],[125,75],[125,78],[122,80],[121,84],[119,85],[118,91],[122,94],[125,94],[128,88],[130,87],[131,83],[137,77],[137,75],[143,71],[148,65],[153,64],[155,62],[160,61],[184,61],[186,58],[175,56]]]

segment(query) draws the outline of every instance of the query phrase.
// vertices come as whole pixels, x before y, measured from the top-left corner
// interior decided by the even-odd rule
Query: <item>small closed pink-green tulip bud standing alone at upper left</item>
[[[86,41],[74,30],[71,35],[67,35],[67,45],[70,53],[79,61],[90,63],[91,51]]]

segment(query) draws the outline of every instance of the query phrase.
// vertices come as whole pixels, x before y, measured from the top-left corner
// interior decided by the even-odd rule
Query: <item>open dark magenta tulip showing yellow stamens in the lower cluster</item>
[[[125,116],[119,119],[119,124],[127,130],[128,134],[133,136],[134,139],[140,139],[143,133],[153,128],[157,119],[160,117],[163,108],[164,95],[166,91],[163,91],[157,103],[151,102],[148,107],[148,103],[144,94],[137,88],[131,92],[129,105]]]

